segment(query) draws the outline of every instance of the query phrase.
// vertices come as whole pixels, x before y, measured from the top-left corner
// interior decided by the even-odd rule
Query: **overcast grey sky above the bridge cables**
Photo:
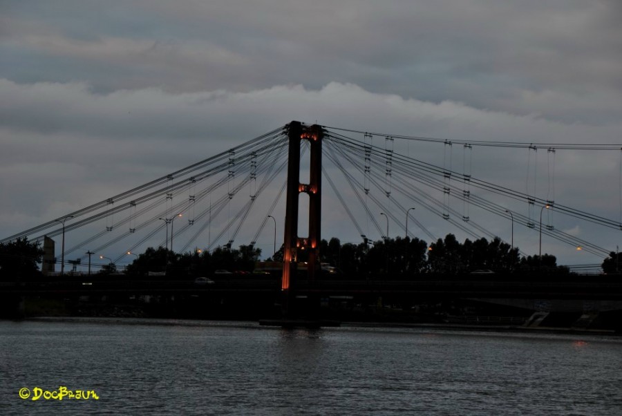
[[[0,0],[0,236],[291,120],[622,149],[620,21],[618,0]],[[442,163],[442,147],[406,146]],[[527,153],[475,149],[473,176],[524,191]],[[556,158],[556,202],[622,217],[619,153]],[[545,151],[538,163],[542,176]],[[538,196],[550,181],[543,176]],[[621,240],[555,221],[612,251]],[[506,220],[487,223],[509,240]],[[515,232],[522,251],[536,254],[537,234]],[[543,247],[560,263],[602,261],[553,241]]]

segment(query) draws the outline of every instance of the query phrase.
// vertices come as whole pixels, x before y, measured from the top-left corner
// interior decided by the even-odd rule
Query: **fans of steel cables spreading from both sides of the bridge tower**
[[[43,240],[48,236],[59,245],[63,240],[62,259],[57,261],[71,260],[82,268],[88,253],[95,254],[94,266],[109,262],[122,265],[133,259],[128,252],[140,253],[158,246],[175,252],[210,251],[218,246],[257,245],[258,240],[263,240],[263,252],[268,256],[272,252],[267,243],[272,229],[266,230],[272,226],[270,217],[279,219],[275,225],[281,228],[285,216],[288,126],[117,195],[105,196],[100,202],[6,236],[0,242],[23,237]],[[491,218],[502,218],[507,226],[500,238],[507,243],[514,243],[516,228],[517,233],[522,229],[538,236],[540,247],[545,238],[601,259],[613,251],[599,241],[581,238],[554,225],[553,214],[603,232],[621,229],[620,220],[554,200],[555,182],[561,179],[556,178],[559,173],[555,160],[556,152],[561,150],[620,153],[620,146],[449,141],[321,128],[323,236],[340,237],[339,232],[347,230],[343,239],[355,242],[404,234],[433,242],[448,233],[491,239],[501,234],[489,225],[493,223]],[[418,150],[422,146],[436,149],[433,156],[437,163],[420,158],[431,154]],[[304,142],[299,152],[302,171],[308,165],[305,155],[309,149],[308,142]],[[499,171],[487,173],[487,177],[473,173],[474,155],[491,154],[491,150],[515,152],[517,164],[522,164],[523,169],[520,181],[513,178],[504,182]],[[536,160],[538,154],[540,162]],[[476,162],[475,170],[484,173],[481,159],[476,160],[480,162]],[[595,182],[600,180],[594,178]],[[520,187],[515,186],[518,182],[522,182]],[[612,194],[612,205],[615,202]],[[330,207],[328,211],[326,207]],[[301,204],[301,217],[305,210],[305,204]],[[341,229],[327,227],[329,217],[337,218]],[[305,227],[301,222],[300,234],[306,232]],[[520,243],[516,245],[520,247]],[[534,249],[522,250],[524,255],[540,254]],[[100,261],[100,256],[106,261]]]

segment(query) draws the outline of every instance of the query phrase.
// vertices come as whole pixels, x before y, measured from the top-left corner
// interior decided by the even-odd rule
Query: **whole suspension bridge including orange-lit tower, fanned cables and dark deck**
[[[413,149],[416,146],[436,146],[440,149],[442,164],[420,160],[415,157],[417,151],[414,150],[415,155],[411,155],[411,145]],[[494,178],[480,178],[473,174],[473,152],[478,149],[527,153],[525,189],[519,190]],[[536,173],[538,149],[540,154],[546,151],[548,169],[544,177],[542,173],[540,176]],[[283,261],[279,290],[285,293],[281,299],[285,313],[288,303],[296,297],[309,296],[319,301],[322,296],[351,294],[491,299],[556,296],[558,299],[617,300],[620,287],[616,281],[590,283],[590,278],[584,278],[581,284],[569,281],[538,283],[532,277],[531,280],[520,278],[520,274],[515,274],[514,281],[498,278],[490,281],[452,280],[446,276],[426,280],[421,276],[430,272],[469,272],[472,267],[469,264],[475,264],[473,259],[469,263],[466,257],[460,261],[452,260],[458,252],[451,252],[447,240],[442,241],[440,229],[473,239],[496,240],[503,256],[513,258],[511,261],[515,265],[520,255],[529,256],[514,245],[515,227],[538,236],[539,249],[533,256],[536,267],[540,267],[544,259],[543,238],[580,249],[595,258],[609,256],[612,250],[601,247],[598,242],[554,226],[553,214],[556,214],[610,233],[622,229],[620,220],[554,200],[554,160],[558,151],[619,153],[620,149],[621,146],[600,144],[450,141],[291,122],[228,151],[1,239],[0,243],[5,244],[19,238],[44,242],[48,254],[44,256],[42,269],[49,276],[46,285],[21,282],[5,284],[2,290],[6,294],[20,295],[55,291],[64,294],[93,294],[97,291],[143,294],[158,290],[168,294],[185,291],[270,292],[274,290],[274,281],[261,279],[244,284],[221,281],[218,285],[196,287],[179,281],[167,284],[144,279],[135,281],[128,276],[108,286],[104,283],[82,285],[88,282],[75,286],[64,282],[62,276],[66,266],[72,271],[80,267],[84,272],[88,265],[88,275],[91,267],[112,271],[117,265],[126,263],[131,268],[140,263],[147,247],[162,247],[167,253],[162,264],[157,265],[161,273],[169,272],[171,261],[175,261],[179,254],[204,256],[219,249],[231,251],[236,243],[245,245],[252,252],[258,247],[260,236],[265,240],[266,227],[270,227],[274,220],[272,250],[264,248],[263,251],[272,252],[272,257]],[[461,163],[453,163],[453,159],[461,159]],[[307,169],[308,173],[305,173]],[[538,189],[542,188],[536,187],[538,178],[540,182],[546,182],[546,192],[538,194]],[[283,193],[286,194],[285,204],[282,203]],[[331,196],[329,200],[327,195]],[[301,204],[301,201],[306,203]],[[335,214],[337,211],[339,215]],[[354,243],[363,247],[372,245],[370,252],[377,247],[379,253],[384,254],[381,259],[384,262],[379,261],[384,263],[384,270],[379,271],[383,278],[366,278],[364,281],[321,278],[320,263],[327,258],[320,250],[321,230],[327,212],[329,217],[337,217],[337,224],[342,227],[348,223],[335,231],[354,230],[354,236],[351,231],[348,235],[348,238],[357,239]],[[281,250],[276,249],[275,217],[283,218]],[[422,218],[433,218],[435,223]],[[487,226],[488,218],[507,221],[511,225],[511,235],[506,233],[505,238],[500,238],[497,230]],[[331,220],[334,224],[334,218]],[[439,221],[442,227],[437,225]],[[399,252],[402,254],[396,256],[391,245],[390,225],[394,230],[404,230],[404,239],[396,237],[397,243],[423,243],[423,254],[428,263],[415,264],[409,260],[410,263],[406,262],[402,267],[399,262],[406,258],[410,249],[404,248],[404,253]],[[324,232],[326,234],[326,227]],[[397,232],[393,231],[393,235],[397,236]],[[429,244],[417,237],[422,235]],[[379,239],[372,236],[379,236]],[[70,240],[68,245],[66,239]],[[57,240],[61,245],[60,258],[55,249]],[[264,242],[263,247],[270,245]],[[339,254],[334,250],[331,254],[332,261],[337,259],[334,263],[345,263],[341,259],[345,252],[342,253],[341,245],[338,248]],[[258,257],[257,252],[254,253],[253,256]],[[303,278],[296,273],[301,261],[308,269]],[[56,263],[60,264],[61,278],[56,276]],[[398,263],[401,272],[417,277],[409,281],[392,280],[390,276],[397,273]],[[534,265],[530,267],[529,276],[534,276]],[[598,269],[599,264],[577,267]]]

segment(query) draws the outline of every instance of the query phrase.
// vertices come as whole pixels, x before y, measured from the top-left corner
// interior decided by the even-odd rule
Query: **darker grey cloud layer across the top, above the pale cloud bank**
[[[39,62],[38,80],[95,91],[352,82],[567,122],[607,122],[622,111],[614,1],[9,4],[9,62]],[[32,82],[32,68],[23,69],[16,62],[3,73]]]

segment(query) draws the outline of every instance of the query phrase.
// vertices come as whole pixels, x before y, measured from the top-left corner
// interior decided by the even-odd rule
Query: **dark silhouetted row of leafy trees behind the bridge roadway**
[[[0,280],[36,276],[43,250],[38,242],[20,238],[0,244]],[[345,243],[338,238],[321,240],[321,262],[337,267],[340,276],[366,278],[408,278],[421,274],[460,275],[491,271],[497,274],[568,274],[567,267],[558,266],[555,256],[520,256],[518,247],[511,247],[499,238],[486,238],[460,243],[453,234],[427,244],[419,238],[388,238],[373,243]],[[619,254],[612,253],[603,262],[603,270],[619,270]],[[205,276],[217,270],[252,272],[261,258],[261,249],[241,245],[238,249],[217,247],[211,252],[174,253],[169,249],[149,247],[138,254],[124,269],[125,274],[147,276],[155,272],[168,276]],[[282,261],[283,247],[267,260]],[[297,260],[306,261],[299,251]],[[117,272],[114,264],[105,265],[99,273]]]

